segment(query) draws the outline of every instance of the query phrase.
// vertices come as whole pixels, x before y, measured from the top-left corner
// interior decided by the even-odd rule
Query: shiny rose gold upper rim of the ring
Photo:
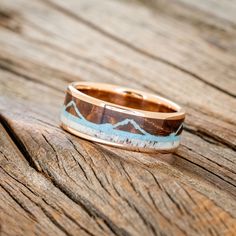
[[[132,114],[132,115],[137,115],[137,116],[143,116],[143,117],[147,117],[147,118],[155,118],[155,119],[183,119],[185,118],[185,111],[176,103],[165,99],[161,96],[157,96],[155,94],[151,94],[149,95],[146,92],[142,92],[139,90],[134,90],[134,89],[128,89],[130,91],[134,91],[134,92],[138,92],[141,93],[142,95],[145,95],[145,99],[147,98],[152,98],[150,99],[151,101],[156,102],[159,98],[161,99],[160,101],[165,101],[165,104],[168,104],[171,107],[174,107],[176,109],[176,107],[179,108],[179,111],[177,112],[173,112],[173,113],[162,113],[162,112],[150,112],[150,111],[144,111],[144,110],[138,110],[138,109],[134,109],[134,108],[129,108],[129,107],[125,107],[125,106],[120,106],[114,103],[110,103],[110,102],[106,102],[94,97],[91,97],[85,93],[80,92],[79,90],[77,90],[75,87],[78,85],[81,86],[91,86],[92,84],[99,84],[100,86],[103,86],[104,90],[106,90],[105,86],[107,86],[108,88],[120,88],[121,90],[124,89],[123,87],[119,87],[119,86],[114,86],[114,85],[110,85],[110,84],[103,84],[103,83],[92,83],[92,82],[74,82],[71,83],[68,87],[66,92],[68,92],[69,94],[71,94],[72,96],[81,99],[82,101],[85,102],[90,102],[91,104],[95,104],[97,106],[100,107],[104,107],[106,105],[109,105],[113,108],[117,108],[117,109],[122,109],[122,112],[127,113],[127,114]],[[109,91],[110,89],[107,88],[107,91]],[[156,97],[156,100],[153,99],[153,97]],[[159,101],[159,100],[158,100]]]

